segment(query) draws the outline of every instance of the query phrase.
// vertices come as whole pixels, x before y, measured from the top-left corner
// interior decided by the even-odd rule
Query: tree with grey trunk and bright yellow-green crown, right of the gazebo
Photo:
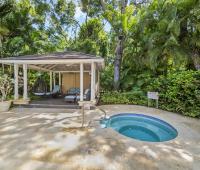
[[[96,15],[102,15],[104,19],[109,22],[112,30],[115,32],[117,43],[114,59],[114,88],[115,90],[119,90],[124,41],[129,29],[135,23],[135,8],[128,0],[99,0],[95,1],[95,3],[93,0],[82,0],[82,3],[87,4],[90,9],[94,9],[99,5],[100,8],[96,10]]]

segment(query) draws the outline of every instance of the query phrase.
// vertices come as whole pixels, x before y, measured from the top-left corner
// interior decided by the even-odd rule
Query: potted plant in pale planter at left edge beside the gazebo
[[[12,79],[7,74],[0,73],[0,112],[10,109],[11,100],[8,100],[8,94],[12,89]]]

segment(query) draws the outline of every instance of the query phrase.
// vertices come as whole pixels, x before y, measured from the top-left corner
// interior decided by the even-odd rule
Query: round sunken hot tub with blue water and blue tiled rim
[[[120,134],[149,142],[169,141],[177,137],[177,130],[158,118],[135,113],[123,113],[101,121],[104,127],[111,127]]]

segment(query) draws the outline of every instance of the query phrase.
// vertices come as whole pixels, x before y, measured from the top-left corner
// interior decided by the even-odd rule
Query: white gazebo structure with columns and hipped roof
[[[61,76],[65,73],[79,73],[80,75],[80,103],[84,94],[84,73],[90,75],[90,102],[96,103],[99,93],[99,71],[104,67],[104,59],[94,55],[79,52],[57,52],[43,55],[27,55],[0,59],[0,63],[14,66],[14,103],[28,103],[28,76],[27,70],[49,72],[50,90],[55,86],[55,76],[58,75],[61,86]],[[23,68],[23,98],[19,99],[19,68]],[[20,101],[20,102],[19,102]]]

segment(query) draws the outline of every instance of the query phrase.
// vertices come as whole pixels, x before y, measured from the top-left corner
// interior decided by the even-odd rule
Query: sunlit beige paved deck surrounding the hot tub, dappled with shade
[[[149,143],[101,129],[98,110],[14,108],[0,113],[1,170],[200,169],[200,120],[130,105],[101,106],[109,115],[130,112],[161,118],[179,132],[169,142]]]

